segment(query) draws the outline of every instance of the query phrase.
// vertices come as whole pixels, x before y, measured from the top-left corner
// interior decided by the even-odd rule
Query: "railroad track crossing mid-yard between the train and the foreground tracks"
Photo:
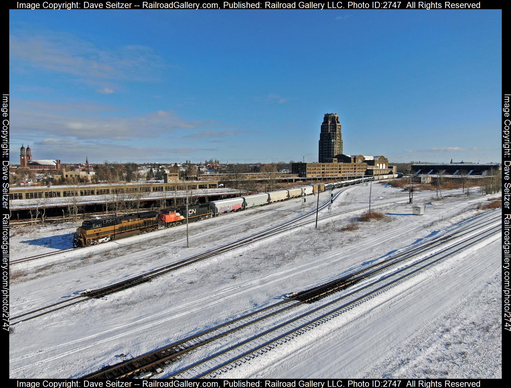
[[[334,195],[334,200],[343,191],[345,191],[346,189],[347,188],[345,188],[344,190],[338,191]],[[424,196],[424,197],[419,197],[419,198],[426,198],[426,197],[430,197],[430,195],[427,195],[427,196]],[[404,201],[408,201],[408,198],[402,199],[402,200],[391,200],[391,201],[381,202],[381,203],[378,203],[378,204],[373,204],[371,207],[376,208],[376,207],[384,206],[384,205],[389,204],[389,203],[399,203],[399,202],[404,202]],[[328,207],[329,202],[330,202],[330,199],[328,199],[327,201],[322,202],[322,204],[320,204],[320,206],[319,206],[319,210],[322,210],[322,209]],[[356,212],[356,211],[359,211],[359,210],[364,210],[364,209],[367,209],[367,208],[368,208],[368,206],[362,206],[362,207],[359,207],[359,208],[350,209],[350,210],[346,210],[346,211],[341,211],[341,212],[337,212],[337,213],[330,213],[328,215],[324,215],[324,216],[319,217],[318,220],[329,219],[329,218],[331,218],[333,216],[337,216],[337,215],[341,215],[341,214],[345,214],[345,213],[352,213],[352,212]],[[12,320],[19,319],[19,318],[21,318],[21,319],[19,319],[19,321],[11,323],[11,325],[16,325],[16,324],[21,323],[21,322],[29,321],[30,319],[34,319],[34,318],[37,318],[39,316],[49,314],[51,312],[54,312],[54,311],[57,311],[57,310],[61,310],[61,309],[66,308],[66,307],[70,307],[70,306],[76,305],[76,304],[81,303],[81,302],[85,302],[85,301],[90,300],[92,298],[102,298],[103,296],[106,296],[106,295],[111,294],[113,292],[117,292],[117,291],[129,288],[129,287],[133,287],[133,286],[138,285],[138,284],[146,283],[146,282],[151,281],[152,279],[154,279],[156,277],[165,275],[166,273],[169,273],[171,271],[175,271],[175,270],[177,270],[179,268],[182,268],[184,266],[190,265],[192,263],[196,263],[196,262],[205,260],[207,258],[216,256],[216,255],[219,255],[219,254],[222,254],[222,253],[229,252],[230,250],[233,250],[233,249],[245,246],[245,245],[249,245],[249,244],[252,244],[254,242],[258,242],[258,241],[264,240],[266,238],[274,237],[274,236],[276,236],[278,234],[291,231],[291,230],[296,229],[298,227],[306,226],[308,224],[314,223],[315,220],[308,220],[308,221],[303,221],[303,222],[300,222],[300,223],[296,223],[296,221],[299,221],[300,219],[303,219],[303,218],[307,218],[308,216],[310,216],[314,212],[315,212],[315,209],[313,209],[312,211],[307,212],[305,214],[302,214],[302,215],[299,215],[297,217],[294,217],[294,218],[292,218],[290,220],[283,221],[283,222],[281,222],[279,224],[270,226],[270,227],[268,227],[268,228],[266,228],[266,229],[264,229],[262,231],[254,233],[254,234],[252,234],[250,236],[246,236],[246,237],[240,238],[239,240],[236,240],[234,242],[230,242],[230,243],[227,243],[227,244],[224,244],[224,245],[212,248],[212,249],[207,250],[207,251],[205,251],[203,253],[191,256],[189,258],[183,259],[183,260],[178,261],[176,263],[172,263],[172,264],[166,265],[164,267],[160,267],[160,268],[154,269],[152,271],[145,272],[142,275],[138,275],[138,276],[135,276],[135,277],[130,278],[130,279],[126,279],[126,280],[118,282],[118,283],[110,284],[110,285],[105,286],[105,287],[101,287],[101,288],[97,288],[97,289],[93,289],[93,290],[88,290],[88,291],[82,292],[80,295],[76,295],[76,296],[73,296],[72,298],[66,299],[65,301],[59,301],[59,302],[53,303],[53,304],[48,305],[48,306],[44,306],[44,307],[41,307],[41,308],[38,308],[38,309],[35,309],[35,310],[31,310],[31,311],[28,311],[28,312],[25,312],[25,313],[13,316],[13,317],[11,317]]]

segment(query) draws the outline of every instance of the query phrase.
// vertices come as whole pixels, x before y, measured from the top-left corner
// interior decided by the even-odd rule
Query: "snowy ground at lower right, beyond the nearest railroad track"
[[[499,238],[223,378],[501,378]]]

